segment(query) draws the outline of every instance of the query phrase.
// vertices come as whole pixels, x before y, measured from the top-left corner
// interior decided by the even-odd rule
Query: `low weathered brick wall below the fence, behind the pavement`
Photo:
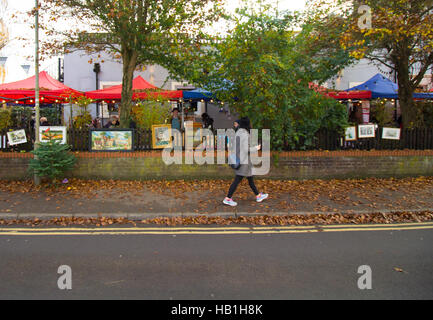
[[[403,152],[403,151],[402,151]],[[274,156],[269,175],[272,179],[332,179],[367,177],[433,176],[433,153],[296,153]],[[0,155],[0,179],[29,178],[30,156]],[[76,169],[69,177],[83,179],[231,179],[227,165],[166,166],[159,153],[79,154]]]

